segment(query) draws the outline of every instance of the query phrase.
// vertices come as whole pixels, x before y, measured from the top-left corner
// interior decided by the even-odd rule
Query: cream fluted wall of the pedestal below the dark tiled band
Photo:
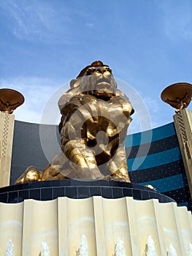
[[[191,212],[157,199],[60,197],[0,203],[0,255],[192,256],[191,241]]]

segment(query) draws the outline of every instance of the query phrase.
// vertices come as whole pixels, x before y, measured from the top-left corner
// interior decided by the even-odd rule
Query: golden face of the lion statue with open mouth
[[[89,67],[85,75],[72,84],[73,88],[79,87],[83,94],[91,94],[100,99],[108,99],[115,95],[117,84],[108,66]]]

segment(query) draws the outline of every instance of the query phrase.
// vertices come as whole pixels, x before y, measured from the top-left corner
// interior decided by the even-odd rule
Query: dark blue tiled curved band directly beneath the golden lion
[[[53,200],[58,197],[82,199],[101,196],[108,199],[133,197],[135,200],[158,199],[160,203],[174,202],[166,195],[138,184],[104,180],[34,181],[0,189],[0,202],[20,203],[26,199]]]

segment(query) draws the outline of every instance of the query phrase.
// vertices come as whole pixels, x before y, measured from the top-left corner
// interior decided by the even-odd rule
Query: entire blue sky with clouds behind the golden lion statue
[[[191,0],[0,0],[0,31],[0,88],[26,99],[17,120],[57,124],[69,80],[97,59],[131,99],[131,132],[171,122],[161,91],[192,83]]]

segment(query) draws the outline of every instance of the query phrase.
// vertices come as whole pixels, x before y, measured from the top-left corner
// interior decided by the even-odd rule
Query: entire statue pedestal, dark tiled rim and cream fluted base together
[[[0,202],[0,255],[9,244],[15,255],[55,256],[147,255],[149,240],[156,255],[191,246],[191,212],[138,184],[36,181],[1,188]]]

